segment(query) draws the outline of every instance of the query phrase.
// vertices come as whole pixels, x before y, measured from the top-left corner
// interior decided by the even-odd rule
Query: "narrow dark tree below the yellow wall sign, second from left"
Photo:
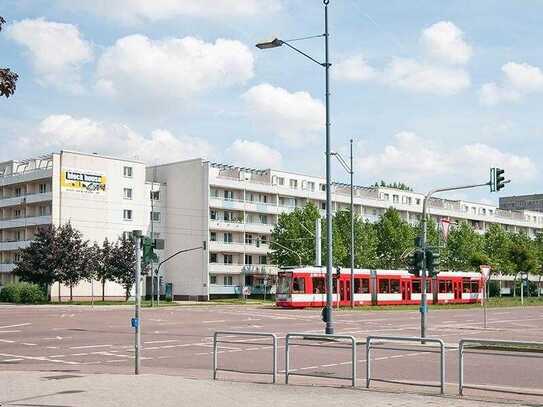
[[[88,242],[81,232],[66,223],[57,229],[56,247],[59,264],[57,281],[70,288],[70,301],[73,300],[73,287],[85,279],[85,260]]]

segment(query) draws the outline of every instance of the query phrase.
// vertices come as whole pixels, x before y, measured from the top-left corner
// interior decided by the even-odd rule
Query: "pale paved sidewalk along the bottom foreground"
[[[384,393],[351,388],[192,380],[160,375],[87,375],[0,372],[0,406],[269,407],[296,406],[476,407],[498,405],[455,397]],[[503,403],[500,403],[503,404]],[[509,404],[522,405],[522,404]],[[533,404],[532,404],[533,405]]]

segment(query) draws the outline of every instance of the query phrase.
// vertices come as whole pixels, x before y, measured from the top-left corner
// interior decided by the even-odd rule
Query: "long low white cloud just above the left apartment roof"
[[[215,154],[206,140],[186,135],[175,136],[168,130],[157,129],[148,136],[126,125],[101,123],[70,115],[51,115],[38,126],[35,137],[23,137],[24,154],[51,150],[77,150],[126,158],[147,163],[164,163]]]

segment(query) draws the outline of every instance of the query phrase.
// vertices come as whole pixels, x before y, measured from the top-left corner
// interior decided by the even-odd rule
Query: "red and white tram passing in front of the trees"
[[[326,269],[302,267],[278,273],[276,304],[280,307],[322,307],[326,303]],[[473,303],[482,299],[480,273],[441,272],[426,281],[428,303]],[[338,292],[339,288],[339,292]],[[355,305],[419,304],[421,279],[406,270],[354,270]],[[333,302],[337,306],[351,303],[351,270],[334,270]]]

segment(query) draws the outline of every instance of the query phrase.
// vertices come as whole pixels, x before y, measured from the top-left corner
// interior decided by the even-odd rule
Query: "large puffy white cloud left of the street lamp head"
[[[243,84],[254,59],[239,41],[193,37],[152,40],[130,35],[100,57],[97,88],[133,102],[186,99],[210,88]]]

